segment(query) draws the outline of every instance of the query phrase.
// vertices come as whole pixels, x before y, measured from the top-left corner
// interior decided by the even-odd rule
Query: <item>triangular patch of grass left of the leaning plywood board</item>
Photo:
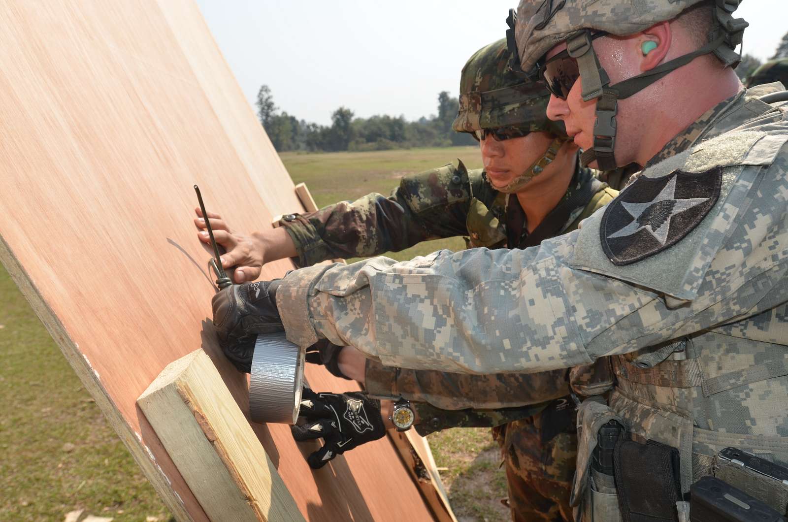
[[[75,509],[166,520],[165,505],[2,266],[0,325],[0,520],[63,520]]]

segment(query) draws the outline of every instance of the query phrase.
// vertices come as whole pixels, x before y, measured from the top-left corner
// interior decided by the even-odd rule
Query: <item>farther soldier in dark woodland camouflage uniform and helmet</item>
[[[563,125],[545,116],[549,95],[544,85],[523,82],[512,72],[510,58],[505,40],[470,58],[463,68],[453,126],[481,138],[483,154],[488,140],[496,140],[488,147],[500,142],[477,132],[481,129],[496,129],[512,140],[529,132],[548,134],[537,162],[500,191],[484,170],[466,170],[457,162],[404,177],[388,198],[370,194],[310,214],[288,214],[280,224],[292,239],[297,263],[310,266],[338,257],[377,255],[457,235],[466,236],[474,247],[526,248],[576,229],[582,219],[611,201],[617,192],[598,181],[593,171],[579,168],[577,149],[567,143]],[[528,227],[517,192],[548,169],[563,145],[575,156],[566,163],[572,171],[559,187],[556,207],[541,223]],[[545,175],[559,176],[550,171]],[[214,222],[214,228],[225,229],[221,222]],[[419,434],[447,427],[493,427],[507,464],[513,518],[570,520],[577,438],[568,375],[563,369],[533,375],[407,371],[370,360],[363,381],[374,397],[413,401]],[[604,393],[612,384],[607,361],[574,368],[572,380],[582,395]]]

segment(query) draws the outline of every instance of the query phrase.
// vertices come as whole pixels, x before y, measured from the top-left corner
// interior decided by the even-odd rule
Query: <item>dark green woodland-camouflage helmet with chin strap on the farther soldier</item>
[[[459,113],[452,124],[457,132],[498,129],[520,131],[515,136],[528,132],[549,132],[556,136],[542,158],[509,185],[498,188],[507,193],[518,192],[541,173],[568,139],[563,122],[547,117],[550,93],[545,84],[524,78],[519,69],[513,68],[515,63],[506,39],[476,51],[460,74]]]

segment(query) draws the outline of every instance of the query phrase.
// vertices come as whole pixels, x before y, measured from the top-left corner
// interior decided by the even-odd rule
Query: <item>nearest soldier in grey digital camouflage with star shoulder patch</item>
[[[548,115],[591,166],[641,173],[539,246],[304,268],[266,282],[275,304],[255,313],[275,309],[304,347],[325,337],[389,366],[486,374],[613,356],[609,405],[578,410],[584,520],[619,509],[589,469],[608,419],[678,450],[680,494],[727,446],[788,463],[788,104],[730,69],[737,3],[522,0],[521,67],[548,80]],[[214,297],[219,321],[232,316],[229,354],[257,331],[229,311],[238,299]]]

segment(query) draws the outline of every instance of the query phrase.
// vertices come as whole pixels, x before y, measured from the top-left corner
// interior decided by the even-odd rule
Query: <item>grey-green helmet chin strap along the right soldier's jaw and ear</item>
[[[698,50],[674,58],[670,62],[656,66],[645,73],[633,76],[610,86],[608,73],[600,65],[597,53],[591,44],[588,30],[579,32],[567,40],[567,54],[578,62],[578,70],[582,78],[582,98],[588,102],[597,99],[597,121],[594,123],[593,148],[583,151],[580,164],[589,166],[597,162],[599,170],[615,170],[615,115],[619,111],[619,99],[627,99],[636,92],[642,91],[657,80],[662,79],[671,71],[692,62],[698,56],[714,53],[726,66],[738,65],[742,57],[734,49],[742,43],[745,28],[749,25],[742,18],[734,18],[732,13],[738,7],[739,0],[716,0],[715,29],[710,38],[712,41]]]

